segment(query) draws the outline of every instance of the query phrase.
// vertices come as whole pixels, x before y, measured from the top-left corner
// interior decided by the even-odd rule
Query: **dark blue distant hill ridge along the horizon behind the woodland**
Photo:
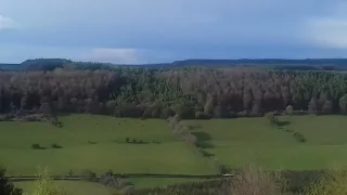
[[[157,64],[107,64],[91,62],[73,62],[66,58],[37,58],[27,60],[21,64],[0,64],[0,70],[53,70],[55,68],[72,69],[112,69],[115,67],[143,67],[143,68],[181,68],[181,67],[261,67],[287,70],[347,70],[347,58],[243,58],[243,60],[185,60],[172,63]]]

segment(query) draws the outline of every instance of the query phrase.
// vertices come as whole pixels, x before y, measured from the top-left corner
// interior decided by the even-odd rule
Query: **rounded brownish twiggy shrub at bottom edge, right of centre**
[[[259,167],[247,166],[232,181],[231,191],[235,195],[279,195],[281,184],[270,172]]]

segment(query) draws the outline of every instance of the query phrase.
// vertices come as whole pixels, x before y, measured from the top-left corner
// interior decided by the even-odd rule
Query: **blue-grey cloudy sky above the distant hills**
[[[345,0],[0,0],[0,62],[347,57]]]

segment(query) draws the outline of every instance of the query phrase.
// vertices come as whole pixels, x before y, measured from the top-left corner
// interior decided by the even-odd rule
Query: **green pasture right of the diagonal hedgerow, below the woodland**
[[[347,117],[293,116],[282,129],[272,128],[264,118],[188,121],[201,125],[194,131],[209,139],[206,148],[220,164],[240,167],[258,164],[272,169],[320,169],[347,165]],[[296,142],[285,129],[303,133],[307,143]]]

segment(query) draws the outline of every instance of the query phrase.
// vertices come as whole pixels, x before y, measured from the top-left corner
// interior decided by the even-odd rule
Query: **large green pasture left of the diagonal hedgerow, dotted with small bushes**
[[[105,116],[61,117],[64,128],[44,122],[0,122],[0,164],[9,176],[35,174],[48,166],[52,174],[80,173],[211,173],[201,157],[177,141],[164,120],[117,119]],[[126,138],[149,144],[126,144]],[[152,140],[160,144],[152,143]],[[115,142],[117,140],[117,142]],[[88,144],[88,141],[97,144]],[[33,150],[38,143],[47,150]],[[63,148],[51,148],[56,143]]]

